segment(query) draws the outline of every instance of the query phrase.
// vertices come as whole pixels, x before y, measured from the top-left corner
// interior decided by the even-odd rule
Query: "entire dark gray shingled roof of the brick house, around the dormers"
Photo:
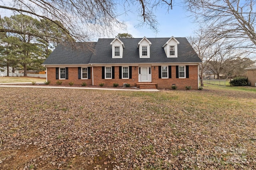
[[[142,38],[123,38],[124,51],[122,59],[112,59],[112,47],[110,43],[114,39],[98,39],[92,42],[95,46],[94,53],[87,50],[87,43],[75,43],[80,50],[68,45],[58,45],[43,64],[112,64],[112,63],[201,63],[202,61],[188,43],[186,38],[176,38],[178,45],[178,57],[167,58],[162,46],[170,38],[148,38],[150,46],[150,58],[141,59],[139,56],[138,42]],[[82,47],[82,48],[81,48]]]

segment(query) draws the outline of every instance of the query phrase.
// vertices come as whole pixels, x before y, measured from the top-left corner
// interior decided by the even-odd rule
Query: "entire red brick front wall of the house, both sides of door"
[[[155,68],[154,68],[155,67]],[[151,68],[152,82],[158,84],[158,88],[171,88],[172,84],[176,84],[178,89],[185,89],[185,86],[191,86],[192,89],[198,88],[198,68],[197,66],[189,66],[189,78],[176,78],[176,66],[172,66],[172,78],[158,78],[158,66],[152,66]],[[94,85],[98,86],[100,83],[104,83],[104,86],[113,86],[113,83],[118,83],[119,86],[123,86],[124,83],[128,83],[131,86],[136,86],[138,83],[138,66],[132,66],[132,78],[131,79],[119,79],[119,66],[115,66],[115,78],[114,79],[102,79],[102,67],[94,66]],[[56,68],[47,68],[47,78],[51,81],[51,84],[56,84]],[[59,80],[62,84],[68,84],[74,82],[74,84],[82,84],[86,82],[87,85],[92,85],[92,68],[91,79],[78,79],[78,67],[68,68],[68,80]]]

